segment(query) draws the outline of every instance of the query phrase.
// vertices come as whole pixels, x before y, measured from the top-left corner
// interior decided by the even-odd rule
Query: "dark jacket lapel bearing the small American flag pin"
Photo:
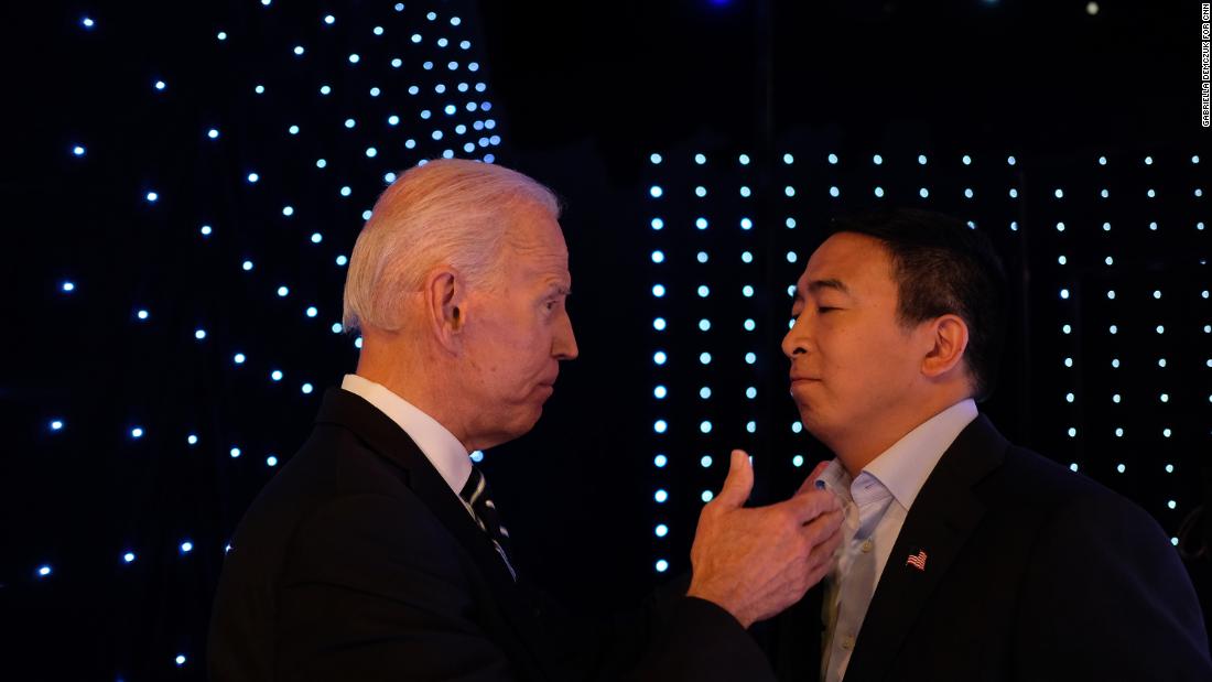
[[[888,678],[919,613],[984,515],[972,487],[1001,465],[1007,447],[978,415],[943,453],[892,546],[846,669],[847,682]],[[922,567],[913,566],[910,556]]]

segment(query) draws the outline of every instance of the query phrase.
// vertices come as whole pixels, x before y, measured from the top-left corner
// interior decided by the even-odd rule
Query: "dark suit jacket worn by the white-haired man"
[[[407,434],[332,389],[231,541],[211,676],[773,680],[713,603],[671,595],[616,627],[579,627],[520,579]]]

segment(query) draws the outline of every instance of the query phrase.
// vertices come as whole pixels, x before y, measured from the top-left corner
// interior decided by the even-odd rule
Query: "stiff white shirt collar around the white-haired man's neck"
[[[387,386],[365,377],[345,374],[341,388],[364,397],[404,429],[446,485],[454,491],[454,494],[459,494],[471,476],[471,459],[454,434]]]

